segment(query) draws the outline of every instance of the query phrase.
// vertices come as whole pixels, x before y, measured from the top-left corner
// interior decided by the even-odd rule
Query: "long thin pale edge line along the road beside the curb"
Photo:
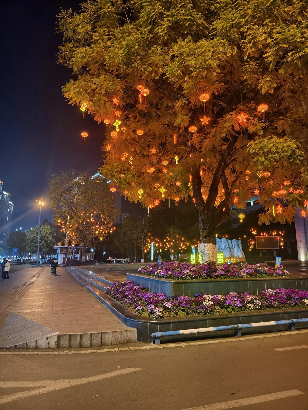
[[[204,340],[202,342],[185,342],[185,343],[167,343],[167,344],[159,344],[155,346],[154,344],[150,343],[147,346],[132,346],[129,347],[129,350],[143,350],[143,349],[159,349],[159,348],[170,348],[170,347],[188,347],[188,346],[196,346],[196,345],[204,345],[204,344],[216,344],[216,343],[228,343],[228,342],[243,342],[245,340],[251,339],[264,339],[267,337],[278,337],[278,336],[295,336],[300,333],[308,333],[308,329],[304,330],[297,330],[296,332],[289,332],[289,333],[271,333],[265,335],[255,335],[255,336],[242,336],[240,338],[229,338],[229,339],[217,339],[217,340]],[[29,349],[30,350],[30,349]],[[104,353],[104,352],[120,352],[120,351],[127,351],[127,347],[117,347],[117,348],[108,348],[108,349],[95,349],[95,350],[53,350],[50,349],[48,351],[19,351],[18,349],[14,350],[2,350],[0,349],[0,355],[67,355],[67,354],[80,354],[80,353]]]

